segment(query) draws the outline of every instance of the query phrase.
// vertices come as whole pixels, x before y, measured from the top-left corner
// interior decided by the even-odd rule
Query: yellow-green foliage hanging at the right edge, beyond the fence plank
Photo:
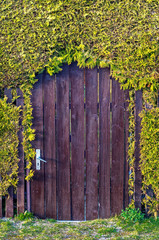
[[[141,172],[144,202],[150,212],[159,211],[159,108],[143,110],[141,132]]]

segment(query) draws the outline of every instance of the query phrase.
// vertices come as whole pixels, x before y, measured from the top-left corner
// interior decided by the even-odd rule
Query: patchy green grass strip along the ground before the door
[[[159,218],[141,222],[125,221],[122,217],[86,222],[57,222],[53,219],[0,219],[0,239],[159,239]]]

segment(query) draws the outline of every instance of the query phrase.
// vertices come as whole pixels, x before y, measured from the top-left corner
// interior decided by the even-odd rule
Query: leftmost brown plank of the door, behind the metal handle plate
[[[43,91],[42,91],[43,74],[38,76],[38,82],[35,83],[32,90],[32,107],[33,107],[33,128],[35,129],[35,140],[33,147],[40,149],[43,158]],[[41,162],[41,169],[36,170],[36,160],[33,161],[34,177],[31,182],[31,210],[40,218],[45,217],[44,211],[44,164]]]

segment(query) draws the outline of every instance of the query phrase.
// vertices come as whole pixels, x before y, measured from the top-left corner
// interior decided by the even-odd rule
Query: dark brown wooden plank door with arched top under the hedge
[[[32,92],[40,170],[31,210],[40,218],[84,220],[118,214],[128,202],[124,92],[109,68],[64,65],[38,75]]]

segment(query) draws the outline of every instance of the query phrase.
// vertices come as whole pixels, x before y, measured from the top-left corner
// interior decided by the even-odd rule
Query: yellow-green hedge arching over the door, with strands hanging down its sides
[[[151,101],[159,89],[158,0],[5,0],[0,4],[0,88],[20,86],[23,92],[23,145],[28,168],[34,157],[30,95],[35,75],[45,68],[49,74],[57,73],[63,63],[73,61],[80,67],[110,66],[121,86],[132,90],[129,156],[133,167],[133,92],[142,88]],[[144,134],[147,121],[153,119],[154,110],[149,111],[142,114],[141,164],[145,167],[146,151],[152,153],[152,162],[152,156],[158,156],[151,151],[147,137],[154,130],[157,138],[157,124]],[[142,173],[147,170],[142,168]]]

